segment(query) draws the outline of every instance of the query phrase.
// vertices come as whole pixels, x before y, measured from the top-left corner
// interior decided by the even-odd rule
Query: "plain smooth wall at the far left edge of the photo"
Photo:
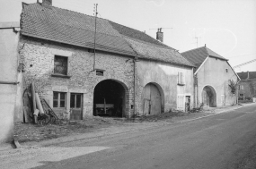
[[[0,29],[0,81],[16,82],[19,33]],[[0,143],[13,139],[17,85],[0,84]]]

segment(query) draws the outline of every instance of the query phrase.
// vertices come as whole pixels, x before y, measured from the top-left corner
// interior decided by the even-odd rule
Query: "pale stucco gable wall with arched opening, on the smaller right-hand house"
[[[238,79],[226,61],[208,57],[207,61],[199,69],[197,78],[199,103],[202,103],[202,90],[204,87],[211,86],[216,91],[216,106],[234,104],[235,97],[230,92],[228,84],[229,80],[236,82]]]

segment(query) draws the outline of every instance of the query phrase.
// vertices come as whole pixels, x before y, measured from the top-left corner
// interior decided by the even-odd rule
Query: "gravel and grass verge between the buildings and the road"
[[[80,136],[84,133],[105,130],[110,132],[134,131],[147,127],[164,125],[165,123],[180,123],[240,106],[225,106],[205,109],[197,113],[170,112],[158,115],[138,116],[134,119],[87,116],[81,121],[60,121],[58,124],[37,125],[31,123],[15,123],[15,136],[20,143],[40,142],[48,139]],[[119,127],[116,127],[119,126]],[[127,129],[128,128],[128,129]]]

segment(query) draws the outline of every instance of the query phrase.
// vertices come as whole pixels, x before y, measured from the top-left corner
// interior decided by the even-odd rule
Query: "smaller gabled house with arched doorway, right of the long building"
[[[223,56],[202,46],[181,53],[190,63],[197,66],[195,76],[195,105],[204,106],[233,105],[234,94],[229,88],[230,80],[236,83],[239,77]]]

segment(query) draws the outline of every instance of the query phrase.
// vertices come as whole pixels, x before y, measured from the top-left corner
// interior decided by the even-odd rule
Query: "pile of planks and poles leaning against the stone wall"
[[[27,89],[23,93],[23,122],[48,124],[56,123],[57,120],[57,115],[46,100],[40,100],[39,94],[35,92],[35,85],[32,82],[31,97]]]

